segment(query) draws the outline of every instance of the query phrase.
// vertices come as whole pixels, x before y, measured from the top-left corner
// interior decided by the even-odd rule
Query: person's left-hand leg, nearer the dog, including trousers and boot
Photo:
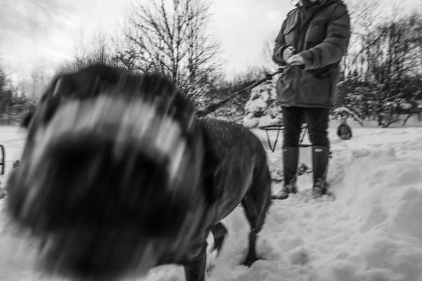
[[[298,192],[296,177],[299,163],[299,138],[302,127],[302,108],[283,107],[283,189],[273,199],[286,199]]]

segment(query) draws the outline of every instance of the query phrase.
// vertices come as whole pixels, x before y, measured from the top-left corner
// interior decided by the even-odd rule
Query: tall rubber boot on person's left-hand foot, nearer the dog
[[[296,179],[298,178],[299,148],[283,148],[283,176],[284,186],[273,199],[286,199],[290,193],[298,192]]]

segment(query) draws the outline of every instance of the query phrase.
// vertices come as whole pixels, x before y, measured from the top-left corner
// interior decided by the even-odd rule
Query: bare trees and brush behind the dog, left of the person
[[[88,45],[79,44],[75,57],[63,63],[58,73],[75,72],[97,63],[124,67],[133,73],[160,72],[198,109],[219,104],[218,100],[253,83],[255,75],[250,73],[231,80],[222,74],[224,60],[209,27],[209,1],[139,1],[133,2],[129,11],[119,34],[98,34]],[[40,84],[35,80],[44,77],[42,70],[35,72],[32,84]],[[39,98],[34,101],[27,98],[34,95],[27,91],[18,93],[10,83],[4,86],[1,95],[0,114],[6,124],[18,122],[20,113],[30,110]],[[242,95],[224,103],[225,106],[219,105],[216,115],[241,115],[248,93]]]

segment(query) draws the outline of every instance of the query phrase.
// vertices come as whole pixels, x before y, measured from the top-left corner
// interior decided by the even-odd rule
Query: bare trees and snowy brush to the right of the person
[[[383,18],[382,4],[350,6],[352,39],[342,61],[338,105],[362,119],[422,111],[422,14],[401,13],[397,6]]]

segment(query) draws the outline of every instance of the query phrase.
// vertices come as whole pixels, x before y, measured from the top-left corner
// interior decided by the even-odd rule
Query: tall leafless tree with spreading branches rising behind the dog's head
[[[116,58],[132,71],[158,71],[187,93],[217,70],[207,0],[136,2]]]

